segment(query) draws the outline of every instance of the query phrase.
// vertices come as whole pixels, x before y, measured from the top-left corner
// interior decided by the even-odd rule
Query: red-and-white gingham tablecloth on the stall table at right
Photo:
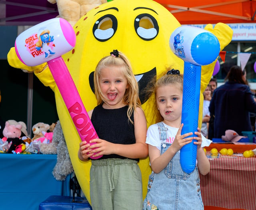
[[[256,210],[256,156],[209,158],[210,172],[200,174],[205,210]]]

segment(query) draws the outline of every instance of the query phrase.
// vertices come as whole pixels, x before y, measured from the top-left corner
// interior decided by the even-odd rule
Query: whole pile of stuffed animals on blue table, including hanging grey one
[[[60,121],[51,125],[38,122],[32,127],[34,137],[30,139],[24,122],[8,120],[0,138],[0,151],[3,153],[57,154],[57,162],[52,171],[56,180],[65,180],[74,169],[62,132]]]

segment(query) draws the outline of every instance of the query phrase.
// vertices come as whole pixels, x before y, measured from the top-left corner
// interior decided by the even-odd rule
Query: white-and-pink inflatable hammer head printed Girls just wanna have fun
[[[22,32],[15,41],[18,58],[27,66],[37,66],[72,50],[76,34],[68,21],[53,18]]]

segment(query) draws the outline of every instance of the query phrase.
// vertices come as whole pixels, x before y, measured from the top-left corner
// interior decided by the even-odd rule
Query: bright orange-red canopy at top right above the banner
[[[155,0],[180,24],[254,23],[256,0]]]

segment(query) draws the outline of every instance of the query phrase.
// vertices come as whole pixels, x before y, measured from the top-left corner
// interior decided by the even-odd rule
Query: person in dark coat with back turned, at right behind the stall
[[[216,88],[209,111],[214,115],[214,138],[221,138],[226,130],[252,131],[250,112],[256,113],[256,102],[246,84],[240,66],[232,66],[225,83]]]

